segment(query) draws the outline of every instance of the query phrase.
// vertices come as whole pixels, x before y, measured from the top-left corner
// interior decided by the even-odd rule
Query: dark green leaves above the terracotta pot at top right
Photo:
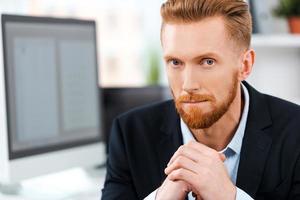
[[[280,0],[274,13],[281,17],[300,16],[300,0]]]

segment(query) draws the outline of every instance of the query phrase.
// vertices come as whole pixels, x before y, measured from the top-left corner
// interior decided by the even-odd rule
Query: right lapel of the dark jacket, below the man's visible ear
[[[237,186],[255,198],[271,147],[272,124],[264,95],[244,82],[250,95],[249,113],[243,139]]]

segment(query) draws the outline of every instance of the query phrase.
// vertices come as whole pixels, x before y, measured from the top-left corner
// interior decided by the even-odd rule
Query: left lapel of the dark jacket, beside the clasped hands
[[[180,118],[172,101],[169,107],[162,111],[164,120],[161,126],[161,134],[156,142],[156,150],[160,164],[160,175],[163,181],[166,177],[164,169],[175,151],[182,145],[182,133],[180,129]]]

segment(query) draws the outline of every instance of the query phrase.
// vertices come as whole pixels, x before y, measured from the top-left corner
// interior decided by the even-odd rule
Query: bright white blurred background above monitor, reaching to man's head
[[[159,9],[162,2],[1,0],[0,9],[5,13],[96,20],[101,66],[99,84],[104,87],[145,86],[151,82],[148,75],[151,62],[160,61]]]

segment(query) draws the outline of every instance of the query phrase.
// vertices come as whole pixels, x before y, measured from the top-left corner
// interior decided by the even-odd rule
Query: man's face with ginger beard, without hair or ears
[[[165,24],[162,46],[177,111],[192,129],[210,127],[229,109],[240,83],[241,51],[223,19]]]

